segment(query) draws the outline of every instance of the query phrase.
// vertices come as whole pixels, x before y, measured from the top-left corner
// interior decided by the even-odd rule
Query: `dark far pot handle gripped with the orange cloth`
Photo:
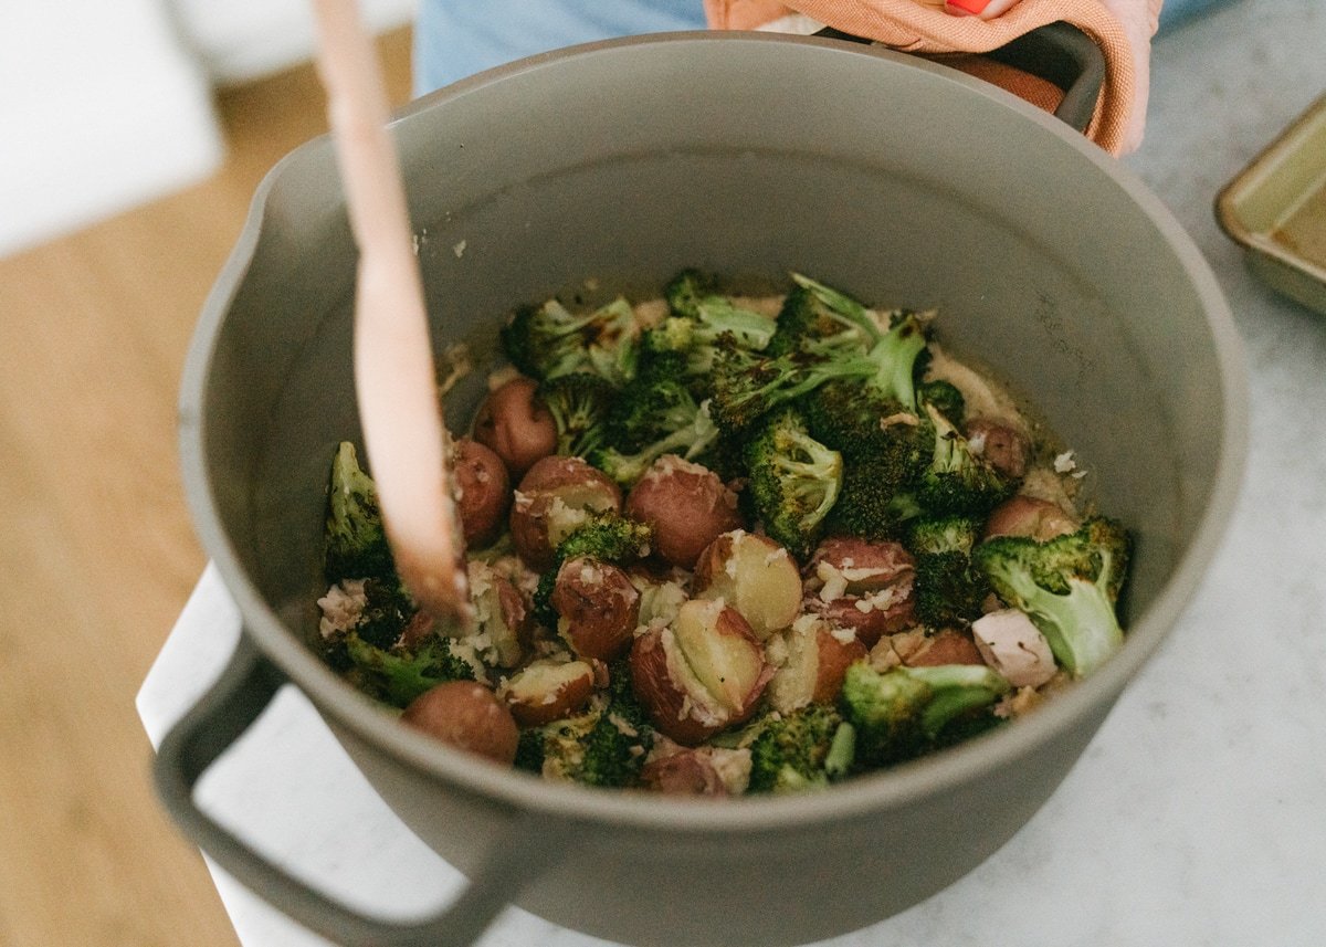
[[[825,27],[815,36],[873,42],[833,27]],[[1090,36],[1069,23],[1048,23],[984,54],[1058,86],[1063,98],[1054,117],[1086,131],[1105,84],[1105,53]]]

